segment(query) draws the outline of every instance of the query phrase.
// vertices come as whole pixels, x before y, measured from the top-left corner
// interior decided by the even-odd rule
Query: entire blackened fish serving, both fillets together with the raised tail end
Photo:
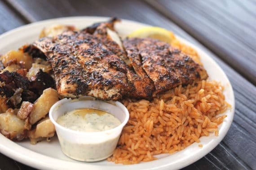
[[[114,29],[116,21],[33,43],[51,63],[61,97],[149,99],[207,78],[202,66],[168,43],[150,38],[122,41]]]

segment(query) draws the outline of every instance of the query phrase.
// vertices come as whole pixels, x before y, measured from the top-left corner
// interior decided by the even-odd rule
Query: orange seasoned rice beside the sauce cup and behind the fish
[[[174,37],[174,36],[173,36]],[[175,37],[174,37],[175,38]],[[199,64],[197,52],[177,39],[172,46],[189,54]],[[120,136],[118,147],[108,161],[136,164],[157,159],[160,153],[175,153],[201,136],[214,133],[227,115],[219,115],[230,107],[216,81],[198,81],[169,90],[152,101],[124,99],[130,118]],[[199,147],[203,147],[199,144]]]

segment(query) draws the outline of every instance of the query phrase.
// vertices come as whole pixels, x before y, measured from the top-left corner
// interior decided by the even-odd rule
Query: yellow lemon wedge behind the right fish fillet
[[[172,43],[172,40],[175,39],[175,36],[172,32],[165,30],[160,27],[144,27],[138,30],[135,30],[128,35],[128,38],[139,37],[139,38],[154,38],[166,43]]]

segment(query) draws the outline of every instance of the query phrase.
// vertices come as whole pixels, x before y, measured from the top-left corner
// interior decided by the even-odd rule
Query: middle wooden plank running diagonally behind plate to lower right
[[[13,7],[16,6],[22,16],[30,21],[83,15],[116,16],[173,30],[175,34],[202,48],[203,51],[215,59],[229,77],[234,88],[236,110],[234,122],[221,144],[205,157],[184,169],[256,169],[255,86],[203,47],[197,40],[173,24],[167,17],[154,10],[153,7],[144,1],[137,0],[76,0],[75,3],[71,3],[71,0],[9,0],[9,2]],[[0,22],[0,25],[2,24]],[[2,169],[1,165],[0,169]]]

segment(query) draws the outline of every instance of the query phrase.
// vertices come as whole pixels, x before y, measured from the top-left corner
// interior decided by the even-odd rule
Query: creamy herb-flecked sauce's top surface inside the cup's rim
[[[58,117],[57,123],[81,132],[101,132],[121,124],[114,115],[94,108],[79,108],[69,111]]]

